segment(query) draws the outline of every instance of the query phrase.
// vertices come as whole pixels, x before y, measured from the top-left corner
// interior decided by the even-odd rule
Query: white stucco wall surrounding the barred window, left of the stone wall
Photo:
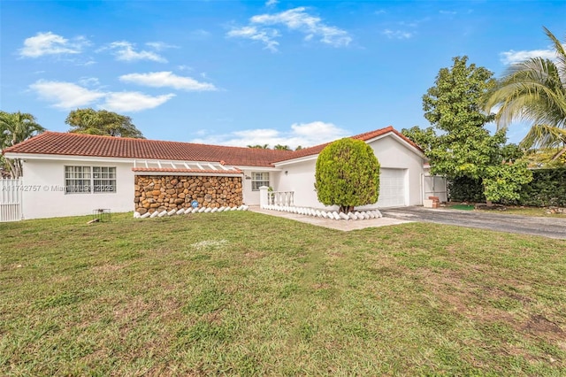
[[[65,194],[65,165],[115,166],[116,192]],[[24,163],[22,194],[24,219],[89,215],[97,208],[111,212],[134,211],[132,164],[92,161],[31,160]]]

